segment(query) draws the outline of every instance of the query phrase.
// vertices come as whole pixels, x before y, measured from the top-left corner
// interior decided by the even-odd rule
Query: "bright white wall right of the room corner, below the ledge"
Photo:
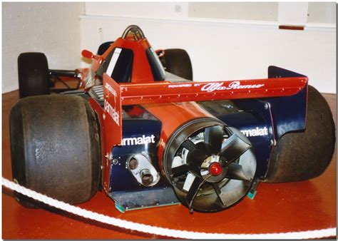
[[[275,65],[309,76],[309,83],[323,93],[336,91],[335,26],[292,31],[280,30],[278,22],[271,21],[128,16],[137,13],[135,9],[120,11],[120,16],[93,16],[109,8],[113,6],[95,4],[93,9],[86,3],[82,48],[96,51],[103,41],[115,40],[126,26],[137,24],[154,48],[185,48],[195,81],[265,78],[267,67]],[[173,8],[167,10],[170,15]]]

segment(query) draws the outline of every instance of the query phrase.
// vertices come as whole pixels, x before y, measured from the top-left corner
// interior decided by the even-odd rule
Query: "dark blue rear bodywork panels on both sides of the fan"
[[[269,78],[283,78],[302,75],[270,66],[268,76]],[[199,104],[215,118],[219,118],[227,125],[235,127],[247,135],[253,145],[257,159],[256,176],[264,179],[272,149],[282,135],[305,128],[307,86],[295,96],[205,101]],[[135,108],[138,109],[138,114],[130,114],[133,111],[135,112]],[[116,200],[119,210],[177,203],[178,200],[165,177],[161,176],[156,185],[145,187],[140,185],[130,173],[130,170],[126,168],[127,161],[133,155],[145,153],[152,160],[158,173],[161,173],[158,167],[158,145],[162,123],[141,106],[127,106],[123,109],[123,113],[123,138],[154,135],[155,143],[122,145],[113,148],[113,159],[118,160],[118,162],[111,164],[109,195]],[[143,198],[140,198],[141,196]],[[163,199],[158,200],[155,196],[161,196]],[[123,199],[123,197],[126,198]],[[155,202],[153,201],[154,198]],[[128,200],[128,204],[126,204],[126,200]]]

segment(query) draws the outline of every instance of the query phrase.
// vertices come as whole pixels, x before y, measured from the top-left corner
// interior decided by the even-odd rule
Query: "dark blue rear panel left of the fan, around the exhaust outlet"
[[[128,169],[128,161],[137,154],[149,157],[151,164],[160,173],[158,166],[158,143],[162,130],[160,120],[140,106],[123,107],[122,145],[113,148],[109,197],[116,202],[121,212],[145,207],[178,204],[170,184],[161,176],[158,183],[145,186],[135,179]]]

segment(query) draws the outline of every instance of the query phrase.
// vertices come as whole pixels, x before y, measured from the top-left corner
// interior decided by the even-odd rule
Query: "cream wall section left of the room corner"
[[[19,88],[20,53],[46,53],[49,68],[81,64],[80,18],[83,3],[2,4],[2,91]]]

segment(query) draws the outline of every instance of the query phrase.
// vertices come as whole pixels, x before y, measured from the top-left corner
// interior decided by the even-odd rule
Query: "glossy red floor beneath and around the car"
[[[2,176],[11,180],[9,110],[18,92],[6,93],[2,102]],[[335,95],[325,95],[334,111]],[[212,214],[181,206],[135,210],[122,214],[114,202],[98,192],[80,207],[111,217],[158,227],[198,232],[271,233],[319,230],[337,226],[336,153],[319,178],[297,183],[260,183],[255,200],[245,198],[230,210]],[[2,190],[3,239],[140,239],[163,238],[102,225],[57,210],[29,210],[21,207],[11,191]]]

